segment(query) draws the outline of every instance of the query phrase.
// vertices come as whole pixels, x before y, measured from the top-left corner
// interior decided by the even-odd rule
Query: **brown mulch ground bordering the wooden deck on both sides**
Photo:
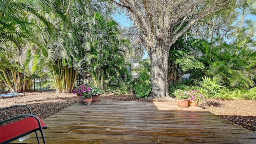
[[[125,101],[147,101],[135,98],[133,94],[116,96],[104,94],[101,100],[125,100]],[[76,103],[74,94],[57,94],[56,92],[26,92],[24,95],[12,98],[0,98],[0,108],[16,104],[27,105],[32,109],[32,114],[44,119],[56,112]],[[173,101],[175,102],[175,101]],[[239,124],[244,128],[256,132],[256,100],[214,100],[208,99],[198,104],[206,110]],[[0,111],[0,120],[9,118],[14,114],[24,114],[24,111],[14,110]]]

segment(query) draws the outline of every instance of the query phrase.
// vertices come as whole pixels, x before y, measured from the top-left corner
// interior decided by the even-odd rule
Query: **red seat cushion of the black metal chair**
[[[39,117],[38,117],[39,118]],[[39,118],[41,126],[47,128],[47,126]],[[0,142],[5,142],[27,132],[33,132],[38,129],[38,122],[35,118],[29,117],[11,124],[7,124],[0,127]]]

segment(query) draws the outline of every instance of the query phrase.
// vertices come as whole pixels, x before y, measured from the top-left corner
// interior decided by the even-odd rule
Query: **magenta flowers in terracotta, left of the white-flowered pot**
[[[76,94],[78,102],[90,105],[92,103],[91,88],[82,84],[73,90],[73,94]]]

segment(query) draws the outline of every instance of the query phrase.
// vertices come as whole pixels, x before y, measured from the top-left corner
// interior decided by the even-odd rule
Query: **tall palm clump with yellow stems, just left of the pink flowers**
[[[39,32],[39,41],[43,46],[28,51],[26,64],[32,64],[30,71],[42,71],[47,66],[47,72],[52,80],[56,92],[72,92],[78,72],[78,61],[84,58],[86,50],[82,45],[85,42],[86,31],[90,14],[97,10],[90,1],[72,0],[66,7],[69,19],[49,15],[47,20],[54,23],[55,33],[49,36],[46,32]],[[41,29],[46,29],[40,25]],[[29,62],[32,61],[32,62]]]

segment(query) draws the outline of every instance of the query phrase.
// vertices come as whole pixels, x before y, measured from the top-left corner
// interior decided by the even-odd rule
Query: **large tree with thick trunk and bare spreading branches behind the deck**
[[[169,99],[168,55],[170,47],[193,24],[234,0],[110,0],[126,9],[146,42],[151,60],[150,98]]]

